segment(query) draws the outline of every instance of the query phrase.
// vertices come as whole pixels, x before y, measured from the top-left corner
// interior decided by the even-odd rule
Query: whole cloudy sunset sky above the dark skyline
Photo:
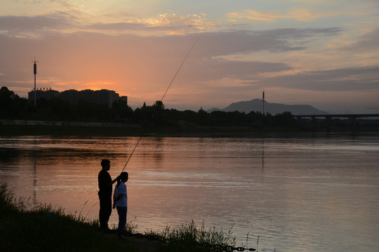
[[[378,41],[379,0],[1,0],[0,85],[27,97],[35,58],[37,87],[114,90],[133,109],[223,109],[265,91],[375,113]]]

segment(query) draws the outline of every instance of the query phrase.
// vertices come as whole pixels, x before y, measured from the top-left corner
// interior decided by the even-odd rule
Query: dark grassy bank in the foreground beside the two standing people
[[[132,236],[121,241],[117,235],[99,232],[98,220],[15,199],[7,184],[0,184],[0,251],[208,252],[231,251],[235,244],[231,229],[206,230],[204,223],[197,227],[193,221],[162,232],[146,232],[143,239],[133,238],[135,227],[128,223],[126,230]]]

